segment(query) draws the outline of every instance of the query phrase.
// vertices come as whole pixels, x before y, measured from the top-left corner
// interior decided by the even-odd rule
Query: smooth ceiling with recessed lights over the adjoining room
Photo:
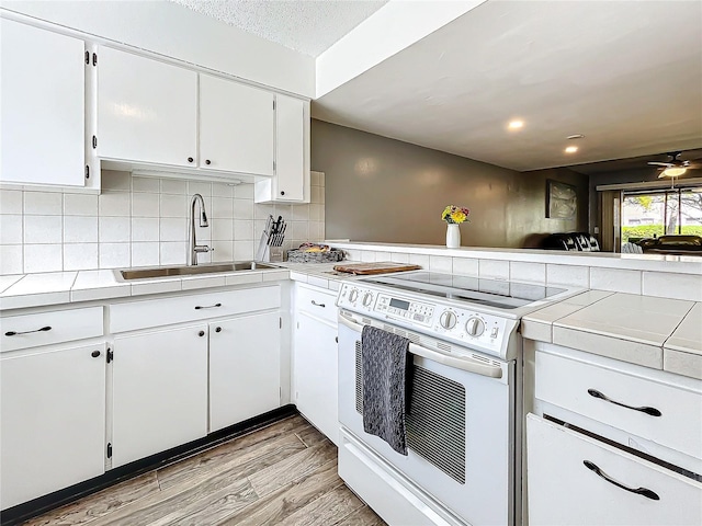
[[[488,0],[313,116],[520,171],[700,148],[702,2]]]

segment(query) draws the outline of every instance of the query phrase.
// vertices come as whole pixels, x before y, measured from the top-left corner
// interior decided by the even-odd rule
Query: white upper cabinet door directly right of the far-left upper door
[[[194,167],[197,73],[109,47],[98,56],[98,155]]]

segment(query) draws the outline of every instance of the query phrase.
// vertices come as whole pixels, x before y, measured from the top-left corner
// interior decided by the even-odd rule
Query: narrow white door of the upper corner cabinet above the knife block
[[[278,95],[275,101],[275,182],[279,201],[303,201],[305,170],[304,101]]]

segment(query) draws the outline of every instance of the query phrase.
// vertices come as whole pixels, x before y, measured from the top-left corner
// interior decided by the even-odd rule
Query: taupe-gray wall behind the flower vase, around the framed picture
[[[534,247],[587,230],[588,178],[565,169],[520,173],[316,119],[312,169],[326,173],[328,239],[443,244],[452,204],[471,209],[464,247]],[[546,179],[577,186],[577,219],[546,219]]]

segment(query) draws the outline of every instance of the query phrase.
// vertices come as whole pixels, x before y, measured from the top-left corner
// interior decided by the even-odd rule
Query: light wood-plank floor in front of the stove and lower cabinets
[[[337,474],[337,448],[291,416],[25,526],[383,526]]]

